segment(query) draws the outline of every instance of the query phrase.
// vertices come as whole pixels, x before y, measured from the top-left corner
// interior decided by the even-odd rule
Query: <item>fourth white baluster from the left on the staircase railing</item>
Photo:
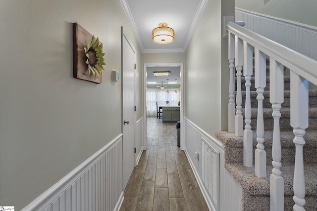
[[[255,48],[255,87],[257,89],[258,117],[257,117],[257,149],[255,151],[255,174],[258,177],[266,176],[266,152],[264,150],[264,119],[263,100],[266,86],[266,55]]]

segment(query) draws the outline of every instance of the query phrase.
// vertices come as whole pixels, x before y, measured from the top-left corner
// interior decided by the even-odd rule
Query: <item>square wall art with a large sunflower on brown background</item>
[[[106,65],[103,43],[77,23],[73,23],[74,78],[101,83],[103,65]]]

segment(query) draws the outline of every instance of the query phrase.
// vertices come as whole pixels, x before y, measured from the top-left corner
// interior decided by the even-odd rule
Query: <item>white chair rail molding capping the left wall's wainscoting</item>
[[[116,144],[120,139],[122,139],[122,133],[110,141],[106,146],[80,164],[76,169],[73,169],[61,180],[55,183],[51,188],[41,194],[33,202],[27,205],[22,211],[35,211],[42,210],[49,204],[51,204],[61,193],[63,193],[70,185],[80,178],[84,172],[90,169],[96,161],[98,161],[108,149],[110,149],[114,144]]]

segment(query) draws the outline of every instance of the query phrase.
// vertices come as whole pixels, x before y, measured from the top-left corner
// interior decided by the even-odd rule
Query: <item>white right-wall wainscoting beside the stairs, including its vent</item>
[[[242,187],[224,168],[223,144],[186,118],[184,131],[185,153],[209,209],[241,211]],[[195,152],[199,153],[198,158]],[[209,172],[209,169],[213,172]]]

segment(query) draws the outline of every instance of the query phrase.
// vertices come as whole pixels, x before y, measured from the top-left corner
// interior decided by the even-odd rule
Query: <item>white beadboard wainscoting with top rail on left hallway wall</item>
[[[122,134],[22,211],[113,211],[123,201]]]

